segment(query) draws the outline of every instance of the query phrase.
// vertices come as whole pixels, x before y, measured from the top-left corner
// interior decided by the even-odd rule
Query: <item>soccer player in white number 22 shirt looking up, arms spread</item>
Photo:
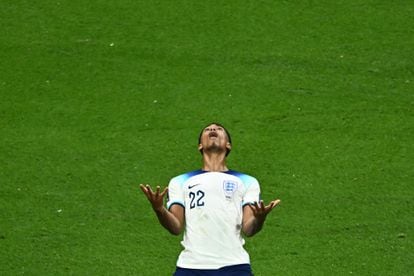
[[[280,200],[265,205],[256,178],[227,168],[231,138],[222,125],[204,128],[198,149],[200,170],[172,178],[162,191],[140,185],[161,225],[174,235],[184,230],[174,275],[253,275],[242,233],[259,232]]]

